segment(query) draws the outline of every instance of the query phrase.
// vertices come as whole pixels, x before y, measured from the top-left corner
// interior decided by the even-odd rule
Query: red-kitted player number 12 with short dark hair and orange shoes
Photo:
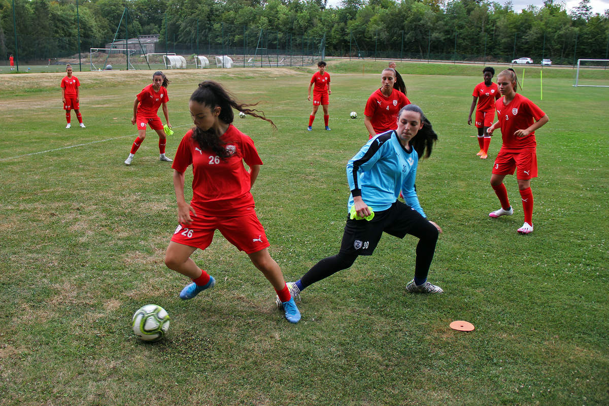
[[[471,94],[474,99],[471,101],[470,115],[467,117],[467,124],[471,125],[471,114],[474,112],[477,100],[475,125],[478,128],[480,151],[476,155],[482,159],[488,158],[488,145],[491,143],[491,138],[486,132],[495,120],[495,101],[501,97],[497,83],[493,82],[493,75],[495,75],[495,69],[490,66],[482,69],[484,82],[478,83]]]

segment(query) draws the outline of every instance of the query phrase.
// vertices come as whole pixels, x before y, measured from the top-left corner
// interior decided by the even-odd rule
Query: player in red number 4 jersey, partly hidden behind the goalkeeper
[[[368,139],[385,131],[395,130],[400,109],[408,104],[408,97],[394,89],[395,69],[385,68],[381,73],[381,88],[368,97],[364,109],[364,125],[370,135]]]

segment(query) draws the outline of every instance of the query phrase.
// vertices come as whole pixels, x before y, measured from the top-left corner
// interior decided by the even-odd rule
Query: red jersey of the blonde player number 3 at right
[[[501,139],[503,140],[501,149],[509,152],[519,152],[523,149],[534,150],[537,145],[535,131],[524,138],[516,137],[514,132],[529,128],[533,122],[538,121],[546,113],[541,111],[535,103],[518,93],[508,105],[504,105],[503,100],[504,98],[501,97],[495,103],[499,125],[501,125]]]

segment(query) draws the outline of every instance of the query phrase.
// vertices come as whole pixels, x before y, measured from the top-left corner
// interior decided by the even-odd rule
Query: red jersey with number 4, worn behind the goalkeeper
[[[389,97],[385,97],[381,89],[377,89],[368,97],[364,114],[370,117],[375,133],[380,134],[398,128],[398,113],[407,104],[410,104],[410,100],[398,89],[393,89]]]

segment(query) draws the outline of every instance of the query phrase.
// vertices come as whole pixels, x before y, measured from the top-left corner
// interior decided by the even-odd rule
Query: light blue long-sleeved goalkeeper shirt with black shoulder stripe
[[[387,210],[398,200],[400,191],[411,208],[427,217],[415,191],[418,154],[400,144],[394,130],[370,139],[347,163],[347,180],[351,189],[347,210],[353,196],[361,196],[375,212]]]

